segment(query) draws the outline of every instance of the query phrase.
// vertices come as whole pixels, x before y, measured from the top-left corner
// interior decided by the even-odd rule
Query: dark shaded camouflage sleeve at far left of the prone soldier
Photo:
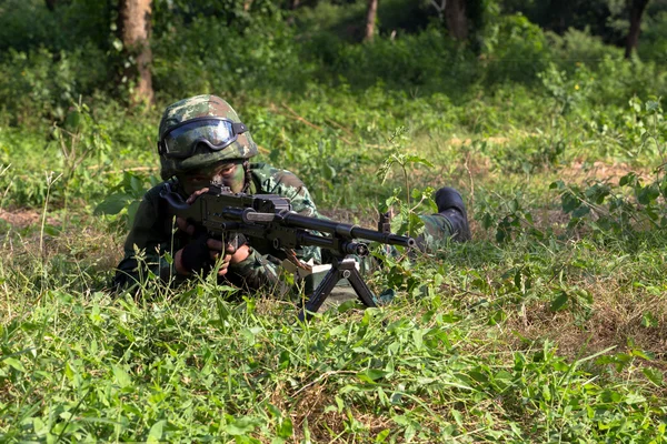
[[[173,264],[165,258],[165,253],[176,251],[177,245],[173,245],[175,238],[166,233],[159,199],[159,188],[155,188],[146,193],[139,204],[132,229],[125,242],[125,256],[113,278],[116,290],[140,284],[151,274],[160,276],[165,282],[177,275]]]

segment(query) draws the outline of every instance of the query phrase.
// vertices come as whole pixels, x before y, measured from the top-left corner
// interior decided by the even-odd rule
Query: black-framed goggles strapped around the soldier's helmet
[[[239,134],[248,131],[240,122],[222,118],[196,118],[171,128],[158,141],[158,153],[166,158],[189,158],[199,143],[211,151],[220,151],[235,142]]]

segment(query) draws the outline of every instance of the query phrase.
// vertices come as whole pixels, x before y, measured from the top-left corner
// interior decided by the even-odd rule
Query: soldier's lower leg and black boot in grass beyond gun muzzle
[[[419,248],[435,252],[444,248],[449,240],[470,240],[468,213],[459,192],[444,186],[436,192],[435,201],[438,213],[419,216],[424,222],[424,234],[417,240]]]

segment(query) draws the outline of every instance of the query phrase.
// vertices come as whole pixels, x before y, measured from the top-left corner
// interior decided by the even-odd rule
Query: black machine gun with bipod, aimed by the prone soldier
[[[323,280],[308,296],[299,313],[299,320],[308,320],[341,280],[347,279],[359,300],[366,306],[377,306],[376,297],[359,274],[356,261],[369,254],[368,244],[359,239],[388,245],[415,246],[415,240],[388,230],[364,229],[357,225],[326,219],[310,218],[292,211],[289,199],[277,194],[232,193],[229,188],[212,184],[208,192],[187,203],[171,190],[169,184],[160,191],[172,214],[183,218],[196,226],[205,228],[212,236],[225,242],[248,242],[261,254],[287,259],[289,252],[303,246],[319,246],[331,252],[335,260]],[[382,222],[381,222],[382,223]],[[323,233],[323,234],[320,234]],[[292,254],[293,256],[293,254]]]

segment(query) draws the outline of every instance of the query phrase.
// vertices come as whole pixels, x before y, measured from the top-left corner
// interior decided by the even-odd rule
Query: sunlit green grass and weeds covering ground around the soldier
[[[664,442],[663,111],[584,98],[560,113],[515,92],[247,99],[262,160],[327,214],[371,226],[368,205],[405,189],[397,165],[377,176],[391,154],[434,164],[408,164],[410,188],[469,204],[472,242],[368,276],[392,304],[308,324],[293,302],[207,281],[104,291],[157,174],[159,110],[99,103],[61,139],[2,129],[2,441]],[[630,171],[644,179],[619,184]],[[94,214],[110,193],[125,210]]]

